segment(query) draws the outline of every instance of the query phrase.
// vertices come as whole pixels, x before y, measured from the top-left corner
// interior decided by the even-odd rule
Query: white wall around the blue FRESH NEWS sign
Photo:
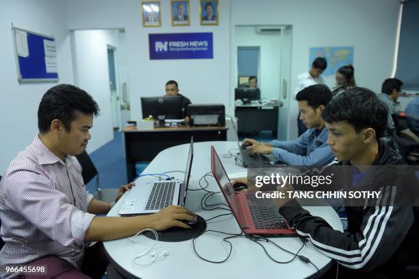
[[[177,80],[180,93],[193,103],[229,104],[231,63],[229,54],[229,1],[220,1],[220,25],[201,26],[199,1],[190,1],[190,26],[172,27],[170,2],[162,3],[162,27],[142,27],[141,1],[67,1],[68,28],[123,28],[127,38],[128,90],[131,118],[140,114],[140,96],[164,95],[164,84]],[[214,59],[149,60],[149,33],[213,32]]]

